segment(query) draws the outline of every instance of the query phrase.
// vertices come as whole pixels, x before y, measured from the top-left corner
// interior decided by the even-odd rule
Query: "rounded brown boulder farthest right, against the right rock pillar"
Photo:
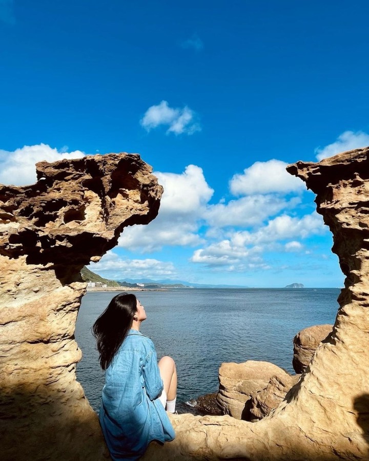
[[[333,325],[314,325],[299,331],[293,339],[294,357],[292,366],[296,373],[302,373],[321,341],[332,332]]]

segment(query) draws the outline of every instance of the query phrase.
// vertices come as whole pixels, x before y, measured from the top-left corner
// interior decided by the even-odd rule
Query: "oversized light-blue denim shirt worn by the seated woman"
[[[150,338],[131,329],[106,370],[99,413],[112,459],[138,459],[153,440],[175,437],[158,400],[163,389]]]

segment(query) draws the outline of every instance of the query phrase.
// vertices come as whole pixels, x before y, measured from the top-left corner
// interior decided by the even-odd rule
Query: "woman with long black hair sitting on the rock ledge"
[[[175,411],[176,367],[170,357],[157,363],[153,342],[139,332],[146,318],[134,295],[120,294],[92,327],[106,370],[99,420],[114,461],[138,459],[151,441],[175,437],[165,408]]]

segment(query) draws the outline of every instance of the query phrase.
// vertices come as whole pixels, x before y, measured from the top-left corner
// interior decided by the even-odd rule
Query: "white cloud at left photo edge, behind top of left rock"
[[[62,152],[47,144],[25,145],[13,152],[0,150],[0,183],[13,185],[33,184],[36,181],[35,163],[42,160],[54,162],[63,158],[80,158],[81,151]]]

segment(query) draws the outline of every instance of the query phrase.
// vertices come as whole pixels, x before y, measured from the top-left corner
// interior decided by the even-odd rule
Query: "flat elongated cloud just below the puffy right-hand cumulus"
[[[276,195],[252,195],[231,200],[227,204],[210,205],[204,218],[210,225],[218,227],[256,225],[299,202],[298,197],[287,201]]]

